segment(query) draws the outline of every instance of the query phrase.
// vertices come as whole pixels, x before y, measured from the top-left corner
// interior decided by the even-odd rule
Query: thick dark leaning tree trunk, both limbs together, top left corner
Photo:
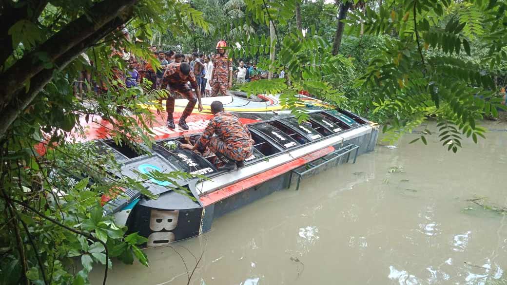
[[[131,17],[136,0],[104,0],[95,4],[90,13],[68,23],[46,42],[27,53],[0,74],[0,139],[17,116],[30,104],[53,77],[83,50],[111,33]],[[93,21],[93,22],[91,22]],[[79,32],[77,32],[79,31]],[[45,68],[39,57],[45,53],[53,66]],[[26,68],[29,66],[30,68]],[[24,83],[29,82],[25,91]]]

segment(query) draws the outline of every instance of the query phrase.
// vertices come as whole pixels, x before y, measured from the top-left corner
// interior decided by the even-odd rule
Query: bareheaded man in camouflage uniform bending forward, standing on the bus
[[[187,82],[190,82],[192,88],[195,89],[197,98],[195,97],[192,88],[190,88]],[[174,129],[174,120],[172,118],[172,113],[174,112],[174,93],[177,92],[189,100],[185,110],[183,111],[182,117],[179,118],[178,123],[178,126],[180,126],[182,129],[188,130],[189,126],[187,125],[186,119],[188,116],[190,116],[190,114],[192,114],[195,103],[197,101],[199,101],[197,108],[199,112],[202,111],[201,91],[199,90],[195,76],[190,72],[190,65],[186,62],[173,62],[169,64],[165,70],[164,76],[162,77],[162,86],[165,87],[167,85],[169,85],[169,96],[166,100],[165,105],[167,111],[167,127]],[[159,102],[162,104],[162,99],[159,99]],[[157,113],[160,114],[160,111],[157,110]]]

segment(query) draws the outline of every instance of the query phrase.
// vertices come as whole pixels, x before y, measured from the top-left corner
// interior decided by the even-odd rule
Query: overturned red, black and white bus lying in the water
[[[203,157],[179,147],[184,134],[192,139],[207,126],[214,100],[221,100],[227,112],[240,117],[255,141],[252,156],[237,170],[221,171],[213,155]],[[105,200],[105,211],[114,215],[118,225],[126,225],[129,232],[147,237],[147,246],[164,245],[204,233],[215,218],[227,212],[285,189],[293,180],[298,189],[307,174],[355,162],[358,155],[374,149],[376,124],[345,110],[330,110],[310,97],[301,96],[301,100],[310,118],[303,124],[282,110],[276,95],[247,98],[235,93],[203,98],[204,110],[195,110],[187,119],[188,131],[169,129],[159,118],[159,124],[152,128],[155,144],[143,154],[107,139],[100,124],[89,126],[87,139],[114,153],[123,175],[178,170],[208,178],[177,181],[188,188],[189,194],[170,190],[169,182],[153,179],[146,187],[159,195],[158,199],[126,189],[123,195]],[[176,100],[175,120],[186,104],[185,99]]]

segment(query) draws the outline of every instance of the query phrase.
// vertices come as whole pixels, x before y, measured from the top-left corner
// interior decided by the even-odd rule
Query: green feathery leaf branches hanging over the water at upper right
[[[486,59],[490,70],[500,63],[499,38],[484,31],[501,34],[503,28],[493,23],[493,18],[505,17],[501,7],[481,1],[385,1],[378,11],[367,7],[364,13],[353,14],[349,23],[356,30],[356,23],[363,22],[367,33],[398,35],[387,41],[359,78],[361,88],[375,94],[375,111],[388,117],[389,139],[410,131],[426,117],[445,122],[440,136],[454,152],[461,147],[463,135],[476,142],[477,136],[484,136],[476,121],[496,116],[497,108],[504,106],[495,98],[489,70],[462,54],[471,56],[470,42],[480,41],[492,45]],[[484,24],[481,19],[486,18],[492,22]]]

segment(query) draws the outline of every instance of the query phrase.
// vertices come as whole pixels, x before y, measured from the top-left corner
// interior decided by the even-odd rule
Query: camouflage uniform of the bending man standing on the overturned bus
[[[180,63],[175,62],[169,64],[162,78],[162,86],[169,85],[170,93],[169,98],[167,98],[167,101],[169,103],[167,104],[166,111],[168,114],[172,114],[174,112],[174,93],[178,92],[183,97],[187,98],[187,100],[189,100],[185,111],[183,111],[183,116],[188,117],[190,114],[192,114],[194,106],[197,103],[197,97],[194,95],[192,88],[197,90],[199,87],[197,86],[195,76],[192,73],[190,73],[188,79],[185,80],[182,80],[179,77],[179,65]],[[187,82],[190,82],[192,88],[190,88]]]

